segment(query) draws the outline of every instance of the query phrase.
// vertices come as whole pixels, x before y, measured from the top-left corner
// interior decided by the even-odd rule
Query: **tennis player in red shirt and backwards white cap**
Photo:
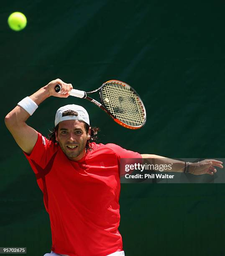
[[[61,93],[56,93],[56,84]],[[50,96],[68,97],[72,84],[61,79],[49,82],[24,98],[5,117],[5,124],[23,150],[49,213],[52,233],[51,253],[45,256],[122,256],[120,223],[120,158],[155,158],[115,144],[94,142],[97,128],[91,128],[87,111],[66,105],[56,112],[55,128],[47,139],[26,124],[38,105]],[[172,159],[170,159],[172,160]],[[158,163],[158,164],[159,164]],[[216,172],[222,162],[204,160],[200,164],[174,160],[175,172],[193,174]]]

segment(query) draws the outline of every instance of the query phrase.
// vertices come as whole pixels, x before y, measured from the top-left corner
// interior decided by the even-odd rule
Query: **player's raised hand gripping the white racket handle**
[[[55,92],[55,87],[57,84],[61,86],[61,92]],[[73,89],[72,84],[67,84],[61,79],[57,78],[46,85],[46,89],[49,92],[49,96],[67,98],[69,97],[69,91]]]

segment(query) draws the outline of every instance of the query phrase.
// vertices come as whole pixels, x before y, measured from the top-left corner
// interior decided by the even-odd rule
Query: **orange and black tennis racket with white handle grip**
[[[61,86],[57,84],[55,91],[60,93],[60,90]],[[100,102],[87,96],[95,92],[99,92]],[[110,80],[92,92],[72,89],[69,94],[93,102],[125,128],[138,129],[146,123],[146,110],[141,98],[125,82]]]

